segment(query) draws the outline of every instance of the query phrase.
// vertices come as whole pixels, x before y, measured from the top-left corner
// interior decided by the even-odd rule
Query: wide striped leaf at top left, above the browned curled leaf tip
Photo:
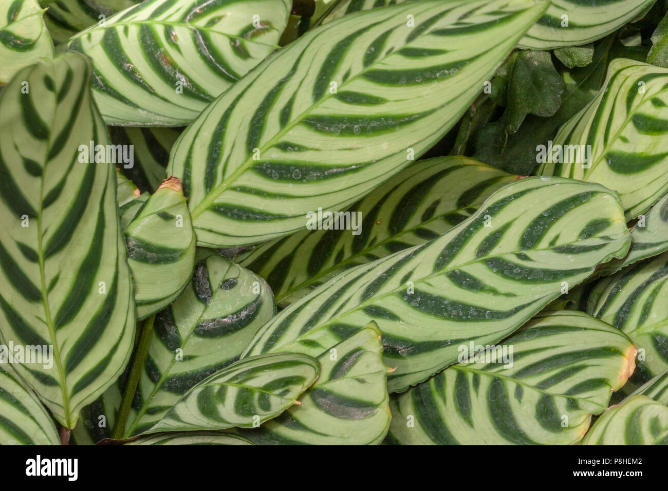
[[[67,48],[92,58],[108,124],[183,126],[277,48],[289,12],[288,0],[147,0]]]

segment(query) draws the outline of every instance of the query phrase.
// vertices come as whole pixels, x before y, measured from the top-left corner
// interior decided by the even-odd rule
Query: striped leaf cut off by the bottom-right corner
[[[581,445],[668,445],[668,406],[634,395],[611,406]]]

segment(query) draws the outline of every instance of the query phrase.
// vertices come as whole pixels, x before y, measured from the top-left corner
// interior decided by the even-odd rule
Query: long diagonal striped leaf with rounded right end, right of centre
[[[349,269],[267,323],[244,355],[317,356],[365,325],[383,332],[391,392],[455,363],[463,341],[510,335],[566,286],[624,255],[617,194],[598,184],[526,178],[422,246]]]

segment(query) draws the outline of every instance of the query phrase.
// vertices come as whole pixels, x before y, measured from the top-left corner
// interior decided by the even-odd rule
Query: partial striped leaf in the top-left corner
[[[53,57],[53,43],[37,0],[3,0],[0,4],[0,86],[41,57]]]

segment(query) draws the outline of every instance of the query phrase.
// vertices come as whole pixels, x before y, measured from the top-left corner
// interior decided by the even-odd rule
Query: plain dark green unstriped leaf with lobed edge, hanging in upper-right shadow
[[[508,61],[506,133],[515,133],[528,114],[552,116],[561,104],[564,82],[546,51],[514,51]]]

